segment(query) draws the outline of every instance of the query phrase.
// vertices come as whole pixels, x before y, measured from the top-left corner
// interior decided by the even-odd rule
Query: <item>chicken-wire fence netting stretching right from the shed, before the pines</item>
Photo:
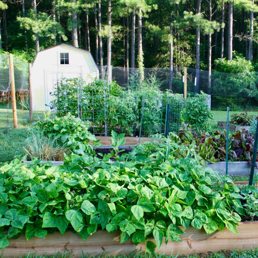
[[[162,92],[170,89],[183,94],[183,68],[144,68],[144,80],[155,77]],[[172,76],[173,74],[173,76]],[[120,86],[132,88],[139,85],[138,68],[112,67],[112,79]],[[171,79],[170,79],[171,78]],[[187,68],[187,93],[194,95],[203,91],[211,95],[212,110],[257,110],[258,72],[223,73]]]

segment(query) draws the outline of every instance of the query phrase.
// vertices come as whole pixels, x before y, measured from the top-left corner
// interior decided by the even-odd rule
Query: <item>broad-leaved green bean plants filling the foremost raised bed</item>
[[[72,154],[62,166],[19,159],[2,164],[0,248],[21,233],[30,239],[58,230],[77,231],[85,240],[97,229],[119,229],[121,242],[147,241],[149,252],[164,237],[165,243],[180,241],[179,225],[203,227],[208,234],[224,227],[237,233],[239,214],[245,213],[232,180],[207,171],[187,147],[173,141],[161,149],[158,142],[149,144],[153,151],[117,156],[122,163],[106,162],[109,155],[100,160]]]

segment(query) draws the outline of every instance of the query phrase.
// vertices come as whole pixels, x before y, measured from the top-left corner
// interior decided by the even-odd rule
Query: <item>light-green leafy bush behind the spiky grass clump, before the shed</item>
[[[75,154],[93,154],[93,147],[89,141],[98,144],[94,135],[88,131],[88,122],[72,116],[50,118],[50,112],[45,113],[45,119],[35,124],[35,130],[40,130],[49,138],[58,140],[60,146],[67,147]]]

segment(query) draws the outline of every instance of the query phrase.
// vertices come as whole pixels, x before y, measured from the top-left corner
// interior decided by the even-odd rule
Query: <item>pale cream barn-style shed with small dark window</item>
[[[68,44],[60,44],[37,53],[31,68],[34,111],[45,111],[59,80],[81,77],[91,82],[99,78],[99,69],[91,52]]]

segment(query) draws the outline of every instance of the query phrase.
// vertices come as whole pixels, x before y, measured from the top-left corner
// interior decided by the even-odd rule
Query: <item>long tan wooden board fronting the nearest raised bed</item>
[[[233,249],[251,249],[258,246],[258,221],[255,222],[240,222],[237,226],[239,234],[234,234],[228,229],[223,232],[216,231],[210,235],[201,229],[197,230],[189,227],[184,230],[181,240],[182,242],[171,242],[168,240],[167,246],[164,241],[160,248],[161,253],[176,255],[178,253],[190,255],[192,253],[204,253],[209,251],[233,250]],[[56,232],[49,234],[45,239],[33,237],[26,240],[25,235],[19,236],[18,239],[9,239],[10,245],[5,247],[0,254],[2,257],[19,257],[36,253],[37,255],[51,255],[63,252],[72,253],[75,258],[80,257],[82,252],[84,255],[119,255],[130,254],[135,250],[145,251],[145,244],[134,246],[131,240],[120,244],[120,233],[108,233],[107,231],[96,231],[92,236],[89,236],[86,241],[83,241],[78,234],[66,232],[64,236]],[[152,239],[150,239],[153,241]],[[158,248],[156,249],[158,252]]]

